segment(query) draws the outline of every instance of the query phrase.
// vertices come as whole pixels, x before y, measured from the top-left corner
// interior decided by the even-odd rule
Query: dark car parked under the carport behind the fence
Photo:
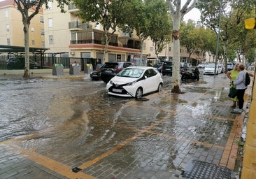
[[[12,69],[24,69],[25,59],[24,57],[10,57],[6,60],[6,67],[9,70]],[[38,69],[38,63],[29,59],[29,69]]]

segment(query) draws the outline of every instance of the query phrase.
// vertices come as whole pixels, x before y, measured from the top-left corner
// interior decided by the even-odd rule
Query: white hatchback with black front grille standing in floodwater
[[[143,94],[162,91],[163,80],[150,66],[130,66],[123,69],[106,85],[106,92],[115,96],[140,99]]]

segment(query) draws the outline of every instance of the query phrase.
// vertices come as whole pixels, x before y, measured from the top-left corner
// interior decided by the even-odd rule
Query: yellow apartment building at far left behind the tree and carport
[[[0,1],[0,44],[24,47],[22,15],[13,0]],[[29,26],[29,46],[45,48],[43,9]]]

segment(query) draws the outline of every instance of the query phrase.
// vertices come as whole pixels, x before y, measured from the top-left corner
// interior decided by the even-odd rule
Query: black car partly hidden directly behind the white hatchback
[[[100,69],[101,80],[108,83],[111,78],[128,66],[134,66],[134,64],[131,62],[106,62]]]

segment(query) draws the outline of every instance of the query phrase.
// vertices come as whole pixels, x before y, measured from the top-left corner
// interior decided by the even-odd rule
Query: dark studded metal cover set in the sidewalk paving
[[[183,173],[185,178],[194,179],[231,179],[232,170],[224,166],[216,166],[207,162],[192,160]]]

